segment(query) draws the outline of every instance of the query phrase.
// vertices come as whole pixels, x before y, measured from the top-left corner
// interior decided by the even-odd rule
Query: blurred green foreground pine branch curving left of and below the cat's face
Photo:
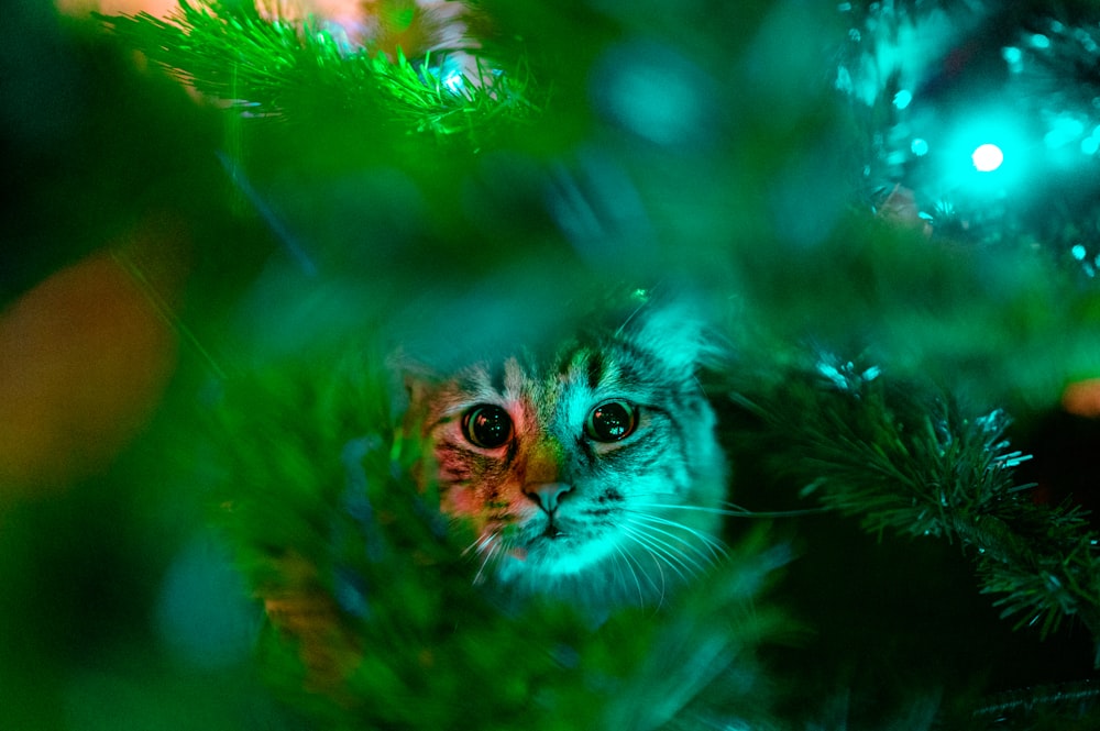
[[[418,490],[418,444],[393,422],[383,358],[340,351],[234,378],[209,414],[212,502],[267,610],[262,658],[286,700],[322,728],[769,718],[754,655],[792,629],[761,600],[784,546],[749,535],[660,611],[594,622],[553,597],[517,606],[475,584],[473,536]]]

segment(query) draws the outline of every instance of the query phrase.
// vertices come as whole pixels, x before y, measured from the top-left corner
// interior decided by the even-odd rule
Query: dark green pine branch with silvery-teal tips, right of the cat
[[[772,391],[735,400],[765,424],[805,495],[865,530],[943,536],[974,560],[1002,617],[1043,635],[1078,618],[1100,666],[1100,551],[1078,507],[1035,505],[997,410],[965,416],[942,395],[890,384],[877,368],[823,358]]]

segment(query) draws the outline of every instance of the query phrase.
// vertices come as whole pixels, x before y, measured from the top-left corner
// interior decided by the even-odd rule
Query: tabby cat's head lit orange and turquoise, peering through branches
[[[442,510],[529,590],[647,600],[714,554],[725,463],[681,312],[422,389]]]

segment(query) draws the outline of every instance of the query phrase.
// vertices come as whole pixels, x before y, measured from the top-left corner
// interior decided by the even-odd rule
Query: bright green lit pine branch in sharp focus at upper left
[[[193,86],[251,118],[307,121],[351,114],[437,139],[477,143],[495,128],[540,109],[522,59],[507,71],[476,59],[476,78],[436,58],[389,58],[349,48],[310,18],[267,19],[252,2],[180,0],[167,19],[148,13],[101,16],[119,40]],[[446,60],[446,54],[440,56]]]

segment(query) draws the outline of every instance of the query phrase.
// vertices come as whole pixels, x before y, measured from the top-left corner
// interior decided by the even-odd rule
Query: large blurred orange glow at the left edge
[[[178,228],[157,219],[119,243],[163,253],[180,241]],[[175,263],[153,272],[148,286],[170,296],[182,274]],[[107,251],[0,313],[0,507],[106,467],[158,403],[176,350],[148,289]]]

